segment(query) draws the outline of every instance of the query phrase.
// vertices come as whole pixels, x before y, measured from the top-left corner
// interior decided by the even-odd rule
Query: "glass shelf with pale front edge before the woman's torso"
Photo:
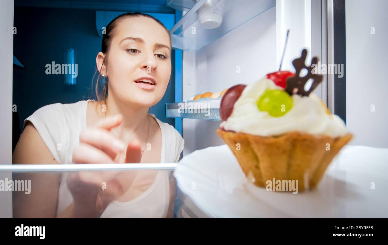
[[[0,218],[210,217],[180,191],[172,172],[176,166],[0,165]]]

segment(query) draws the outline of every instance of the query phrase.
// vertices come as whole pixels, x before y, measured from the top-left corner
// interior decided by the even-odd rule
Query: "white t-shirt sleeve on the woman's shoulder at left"
[[[68,143],[66,140],[68,127],[62,104],[50,104],[39,108],[24,119],[22,130],[28,121],[35,126],[54,159],[58,163],[64,162],[64,152]]]

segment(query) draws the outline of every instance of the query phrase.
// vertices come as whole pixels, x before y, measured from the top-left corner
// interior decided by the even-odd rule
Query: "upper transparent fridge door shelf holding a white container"
[[[185,9],[191,6],[193,0],[167,0],[167,3],[168,6],[174,6],[175,9]],[[197,0],[197,3],[170,29],[173,48],[199,50],[275,6],[275,0],[213,0],[210,3],[210,8],[222,9],[221,25],[214,29],[206,29],[201,26],[199,19],[203,19],[203,15],[209,14],[208,11],[201,11],[202,6],[208,4],[208,0]]]

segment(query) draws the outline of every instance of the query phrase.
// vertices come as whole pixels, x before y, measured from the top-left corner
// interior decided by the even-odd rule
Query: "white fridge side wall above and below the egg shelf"
[[[198,51],[183,52],[183,100],[254,83],[276,64],[276,9],[272,7]],[[184,155],[223,145],[220,121],[183,119]]]

